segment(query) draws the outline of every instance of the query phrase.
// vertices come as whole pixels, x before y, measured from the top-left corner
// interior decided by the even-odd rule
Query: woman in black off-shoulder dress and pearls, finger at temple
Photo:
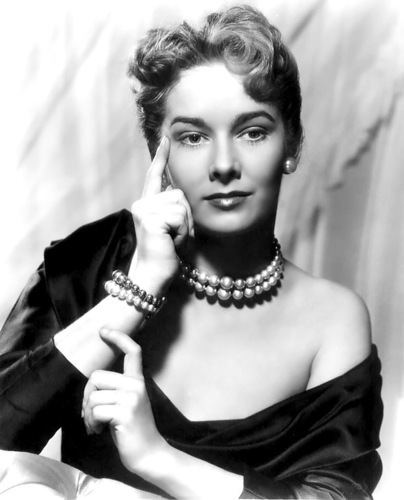
[[[142,197],[46,249],[1,337],[1,447],[61,426],[63,461],[165,497],[371,497],[366,307],[274,238],[302,141],[293,56],[234,7],[150,31],[130,75]]]

